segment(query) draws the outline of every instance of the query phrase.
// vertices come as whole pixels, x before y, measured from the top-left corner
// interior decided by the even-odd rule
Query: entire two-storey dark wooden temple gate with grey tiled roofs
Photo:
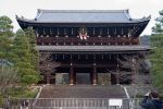
[[[23,29],[36,33],[42,83],[64,83],[57,81],[66,76],[70,85],[84,75],[89,84],[102,84],[102,73],[111,84],[133,83],[140,57],[150,50],[139,41],[150,19],[131,19],[128,10],[39,9],[34,20],[16,16]]]

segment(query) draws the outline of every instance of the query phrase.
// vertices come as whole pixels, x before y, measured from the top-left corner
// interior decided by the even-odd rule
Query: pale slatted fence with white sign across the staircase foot
[[[141,99],[39,98],[9,100],[10,109],[141,109]],[[28,108],[27,108],[28,107]]]

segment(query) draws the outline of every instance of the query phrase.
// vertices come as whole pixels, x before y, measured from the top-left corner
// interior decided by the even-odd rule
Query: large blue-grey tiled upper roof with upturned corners
[[[34,20],[17,17],[30,23],[139,23],[149,17],[131,19],[128,10],[40,10]]]

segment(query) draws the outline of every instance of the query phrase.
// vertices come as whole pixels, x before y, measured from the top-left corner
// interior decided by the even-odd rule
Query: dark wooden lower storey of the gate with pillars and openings
[[[45,56],[46,59],[43,59]],[[41,57],[40,68],[42,75],[46,76],[43,83],[70,85],[130,84],[138,72],[137,65],[139,64],[138,59],[140,59],[138,55],[127,53],[64,55],[43,52]],[[104,80],[104,76],[108,76],[108,81]]]

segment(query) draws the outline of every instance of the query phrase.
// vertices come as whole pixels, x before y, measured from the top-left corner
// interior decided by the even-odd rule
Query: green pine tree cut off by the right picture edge
[[[150,56],[152,62],[153,84],[163,94],[163,10],[160,11],[160,16],[155,20],[156,24],[152,27],[153,35],[151,36],[151,47],[153,53]]]

